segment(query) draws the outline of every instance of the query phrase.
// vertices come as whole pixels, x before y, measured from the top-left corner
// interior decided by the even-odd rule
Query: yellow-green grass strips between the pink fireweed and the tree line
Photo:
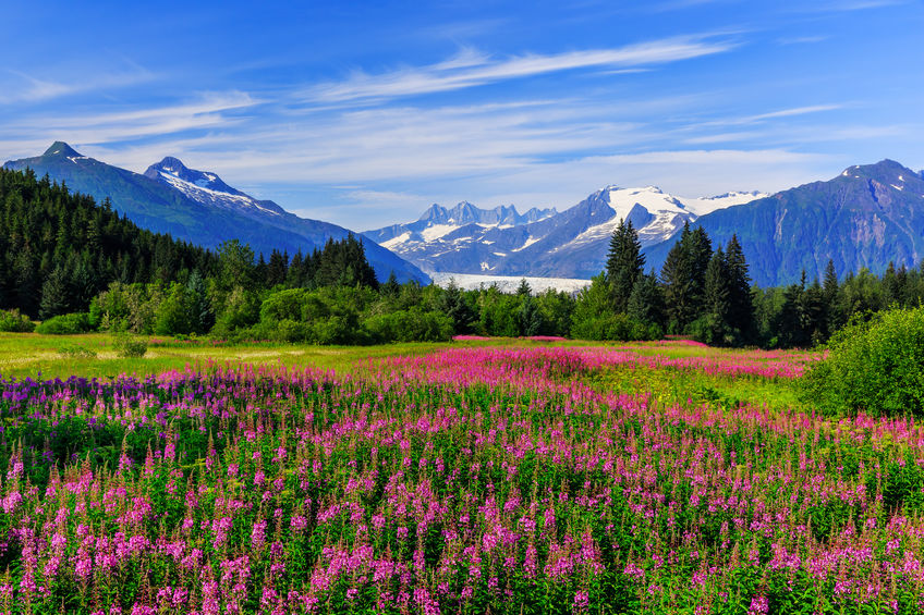
[[[312,346],[278,343],[250,343],[214,346],[208,341],[190,344],[171,339],[159,339],[141,358],[120,358],[115,355],[113,339],[105,333],[83,335],[41,335],[38,333],[0,333],[0,376],[4,378],[86,378],[111,379],[122,373],[144,377],[150,373],[184,369],[187,365],[218,362],[248,362],[285,365],[332,369],[353,372],[368,360],[401,355],[421,355],[449,347],[471,346],[625,346],[642,355],[662,355],[671,358],[716,356],[741,350],[703,348],[698,346],[658,346],[655,344],[625,344],[597,342],[531,342],[516,339],[465,341],[446,343],[404,343],[378,346]],[[166,342],[166,343],[165,343]],[[84,348],[93,356],[69,356],[62,349]],[[74,353],[71,353],[73,355]],[[767,381],[759,378],[730,378],[674,369],[616,368],[589,377],[601,390],[635,394],[647,392],[659,402],[710,403],[733,408],[739,403],[766,405],[771,408],[793,407],[798,404],[795,384],[787,381]]]

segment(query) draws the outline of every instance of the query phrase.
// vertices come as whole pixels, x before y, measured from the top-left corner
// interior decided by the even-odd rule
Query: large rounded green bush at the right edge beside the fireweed
[[[924,307],[854,321],[802,379],[803,399],[828,414],[924,414]]]

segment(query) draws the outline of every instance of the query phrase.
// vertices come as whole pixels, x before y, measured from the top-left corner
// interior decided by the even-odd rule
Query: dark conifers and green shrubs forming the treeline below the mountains
[[[362,242],[266,259],[236,241],[211,251],[139,229],[106,201],[31,171],[0,170],[2,330],[132,331],[317,344],[438,341],[454,334],[587,340],[693,336],[715,345],[812,346],[858,315],[924,299],[924,273],[890,267],[839,281],[751,285],[738,241],[684,227],[661,271],[645,272],[620,223],[606,270],[575,295],[463,291],[376,280]],[[715,249],[714,249],[715,248]],[[20,313],[10,310],[17,310]]]

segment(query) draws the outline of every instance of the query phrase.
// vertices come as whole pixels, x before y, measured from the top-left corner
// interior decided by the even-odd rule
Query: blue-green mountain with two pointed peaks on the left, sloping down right
[[[56,142],[41,156],[8,161],[4,167],[47,174],[100,202],[108,198],[113,209],[139,226],[207,248],[236,238],[267,258],[273,249],[288,250],[291,256],[323,248],[328,239],[342,239],[351,232],[300,218],[271,200],[232,188],[215,173],[189,169],[171,157],[138,174]],[[365,242],[365,251],[380,280],[394,271],[399,281],[429,281],[417,267],[375,242]]]

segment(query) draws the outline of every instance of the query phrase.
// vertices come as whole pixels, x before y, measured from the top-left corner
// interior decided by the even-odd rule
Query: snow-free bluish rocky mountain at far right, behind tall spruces
[[[713,244],[738,236],[751,276],[761,286],[835,270],[883,273],[889,262],[917,267],[924,258],[924,174],[893,160],[855,165],[813,182],[698,218]],[[673,238],[648,247],[660,267]]]

